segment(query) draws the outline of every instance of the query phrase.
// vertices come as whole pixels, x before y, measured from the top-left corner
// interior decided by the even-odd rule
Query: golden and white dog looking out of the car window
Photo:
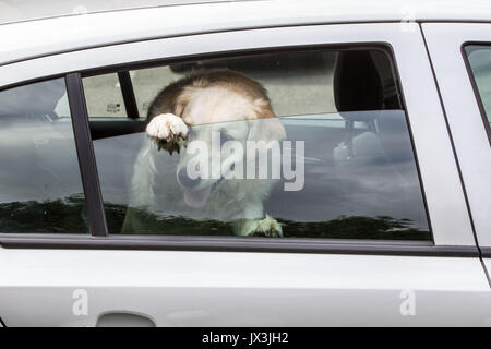
[[[255,164],[248,163],[240,152],[218,155],[213,152],[213,136],[218,136],[220,144],[233,140],[243,148],[248,141],[262,141],[255,152],[267,152],[268,144],[286,136],[260,83],[230,70],[193,72],[165,87],[153,100],[146,134],[134,165],[123,232],[144,229],[132,208],[169,213],[170,205],[183,202],[194,218],[231,221],[235,234],[283,236],[282,226],[263,212],[263,201],[275,180],[226,178],[227,171],[240,164],[246,167]],[[192,153],[190,148],[196,141],[212,152]],[[166,164],[157,164],[161,151],[169,155],[179,153],[177,164],[172,163],[173,179],[169,176],[157,179],[158,168],[171,165],[169,158]],[[196,158],[202,166],[195,168],[195,176],[190,176],[189,166]],[[218,166],[213,168],[213,164]],[[179,184],[177,192],[166,185],[173,180]]]

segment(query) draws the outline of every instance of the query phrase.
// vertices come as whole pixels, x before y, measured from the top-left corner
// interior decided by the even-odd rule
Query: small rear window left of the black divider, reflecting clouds
[[[88,232],[63,79],[0,92],[0,232]]]

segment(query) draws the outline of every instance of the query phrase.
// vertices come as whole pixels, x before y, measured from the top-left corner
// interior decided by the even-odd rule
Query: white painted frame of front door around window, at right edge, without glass
[[[477,240],[491,246],[491,152],[462,47],[468,41],[491,43],[491,25],[424,23],[431,60],[448,127],[455,143]],[[447,35],[448,32],[454,33]]]

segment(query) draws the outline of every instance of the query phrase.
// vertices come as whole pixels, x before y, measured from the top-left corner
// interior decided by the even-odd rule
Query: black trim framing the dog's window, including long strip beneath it
[[[361,24],[360,24],[361,25]],[[382,25],[382,24],[366,24],[366,25]],[[415,24],[416,25],[416,24]],[[327,25],[326,25],[327,26]],[[332,25],[330,25],[332,26]],[[337,25],[339,26],[339,25]],[[343,26],[343,25],[340,25]],[[345,25],[346,26],[346,25]],[[297,27],[301,28],[301,27]],[[249,32],[249,31],[244,31]],[[228,33],[228,32],[224,32]],[[419,34],[419,32],[418,32]],[[324,39],[324,41],[330,41],[328,39]],[[137,44],[137,43],[135,43]],[[131,44],[128,44],[131,45]],[[399,93],[402,96],[402,103],[403,106],[406,108],[406,117],[408,121],[409,132],[410,132],[410,139],[411,139],[411,145],[414,148],[415,154],[415,160],[418,168],[418,176],[420,180],[421,191],[423,195],[424,201],[424,209],[427,213],[428,221],[430,225],[430,230],[432,233],[432,241],[387,241],[387,240],[333,240],[333,239],[312,239],[312,240],[306,240],[306,239],[297,239],[297,238],[288,238],[288,239],[271,239],[271,238],[240,238],[240,237],[166,237],[166,236],[153,236],[153,237],[144,237],[144,236],[116,236],[116,234],[108,234],[107,226],[103,229],[104,233],[100,232],[98,236],[92,236],[88,239],[84,239],[83,237],[79,236],[68,236],[64,234],[56,236],[52,234],[37,234],[36,237],[24,237],[21,234],[0,234],[0,244],[8,246],[8,248],[26,248],[26,246],[37,246],[37,248],[68,248],[68,249],[151,249],[151,250],[180,250],[180,251],[261,251],[261,252],[300,252],[300,253],[356,253],[356,254],[388,254],[388,255],[452,255],[452,256],[477,256],[478,250],[476,245],[472,244],[456,244],[451,246],[443,246],[439,245],[435,242],[435,231],[431,229],[431,209],[428,206],[427,203],[427,195],[424,191],[424,180],[421,177],[420,172],[420,163],[418,160],[418,152],[415,148],[415,140],[412,134],[412,128],[410,124],[410,117],[408,116],[407,110],[407,104],[404,95],[403,86],[400,85],[400,76],[398,73],[398,61],[397,57],[393,50],[393,47],[391,45],[391,40],[381,40],[381,41],[342,41],[342,43],[333,43],[333,44],[316,44],[316,45],[292,45],[291,48],[299,49],[301,47],[302,50],[307,50],[309,47],[320,47],[322,46],[324,49],[326,48],[333,48],[333,47],[369,47],[370,49],[373,49],[374,46],[383,45],[387,47],[391,51],[391,63],[394,65],[395,69],[395,76],[398,83]],[[280,51],[285,51],[288,49],[289,46],[283,46],[279,45],[277,47],[261,47],[261,48],[254,48],[251,49],[254,51],[261,50],[261,51],[267,51],[272,52],[274,49],[278,49]],[[206,53],[206,50],[203,50],[202,53],[200,53],[200,59],[203,57],[209,58],[211,56],[215,55],[221,55],[225,52],[225,55],[237,57],[237,52],[246,52],[248,49],[241,49],[241,50],[232,50],[229,51],[218,51],[218,53]],[[185,58],[193,57],[195,55],[185,56]],[[216,57],[216,56],[215,56]],[[157,63],[158,61],[158,63]],[[182,56],[180,57],[172,57],[166,59],[148,59],[147,61],[143,61],[143,64],[145,68],[149,67],[151,64],[154,65],[161,65],[163,62],[169,63],[170,61],[182,61]],[[121,71],[125,70],[129,71],[132,68],[141,67],[142,61],[135,61],[135,62],[128,62],[124,64],[115,63],[111,65],[99,65],[91,69],[80,69],[74,74],[77,74],[77,79],[80,80],[82,76],[88,76],[91,74],[99,74],[104,72],[104,70],[109,69],[110,72],[115,71]],[[68,75],[67,75],[68,76]],[[74,75],[73,75],[74,76]],[[22,84],[24,84],[23,82]],[[10,86],[9,86],[10,87]],[[1,88],[2,89],[2,88]],[[86,108],[85,108],[86,109]],[[85,112],[85,118],[80,117],[80,112]],[[86,128],[88,128],[88,119],[86,116],[86,110],[81,110],[80,112],[76,112],[79,115],[79,119],[85,119]],[[72,118],[74,117],[74,112],[72,111]],[[77,131],[80,132],[80,131]],[[81,147],[87,147],[88,153],[92,152],[92,156],[89,155],[87,158],[92,157],[92,166],[95,164],[94,154],[93,154],[93,147],[92,147],[92,141],[89,140],[89,135],[83,136],[83,140],[85,140],[83,143],[80,144]],[[77,148],[79,151],[79,148]],[[87,165],[87,163],[85,163]],[[81,166],[84,166],[81,164]],[[91,166],[88,164],[88,166]],[[98,177],[97,177],[97,169],[91,171],[85,171],[88,180],[92,180],[92,185],[97,186],[97,192],[94,197],[97,198],[97,195],[100,196],[100,188],[98,183]],[[92,179],[91,179],[92,177]],[[96,178],[94,178],[96,177]],[[87,195],[87,193],[86,193]],[[100,204],[98,204],[98,210],[104,212],[104,206],[100,201]],[[105,218],[105,217],[104,217]],[[104,226],[101,224],[103,217],[100,215],[97,215],[97,218],[91,218],[91,219],[98,219],[96,225],[99,227]],[[101,239],[103,238],[103,239]],[[246,240],[243,240],[246,239]],[[443,239],[441,239],[443,240]],[[441,243],[440,243],[441,244]]]

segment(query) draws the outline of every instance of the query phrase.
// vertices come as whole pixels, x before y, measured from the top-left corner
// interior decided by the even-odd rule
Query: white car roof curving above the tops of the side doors
[[[168,4],[0,24],[0,65],[91,47],[220,31],[360,22],[491,22],[488,0],[256,0]]]

